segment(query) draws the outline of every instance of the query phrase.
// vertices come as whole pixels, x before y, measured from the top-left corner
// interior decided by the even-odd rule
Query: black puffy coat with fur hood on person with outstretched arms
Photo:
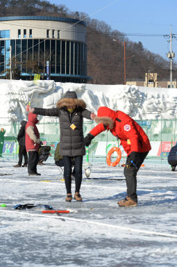
[[[75,94],[75,95],[74,95]],[[66,92],[57,103],[57,108],[35,108],[35,114],[58,117],[60,120],[60,156],[83,156],[85,145],[83,138],[83,118],[89,119],[91,111],[85,109],[82,99],[77,99],[75,92]],[[71,98],[73,97],[73,98]],[[76,106],[72,113],[67,107]]]

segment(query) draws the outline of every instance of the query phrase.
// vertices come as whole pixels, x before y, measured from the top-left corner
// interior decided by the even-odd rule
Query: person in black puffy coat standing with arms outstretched
[[[83,156],[85,146],[83,138],[83,118],[94,119],[95,115],[87,111],[83,99],[78,99],[76,92],[67,91],[57,102],[56,108],[31,108],[26,107],[27,111],[39,115],[58,117],[60,120],[60,148],[59,154],[64,161],[64,177],[67,189],[66,201],[72,200],[71,195],[71,167],[72,159],[75,159],[75,194],[76,201],[82,201],[80,194],[82,181]]]

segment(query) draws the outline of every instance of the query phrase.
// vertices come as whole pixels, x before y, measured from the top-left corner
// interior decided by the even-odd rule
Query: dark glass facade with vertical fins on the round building
[[[86,44],[67,40],[0,39],[0,76],[6,73],[12,51],[12,67],[17,67],[22,79],[33,79],[35,73],[46,77],[46,62],[50,62],[51,79],[55,81],[86,81]],[[13,60],[14,59],[14,60]],[[65,79],[61,79],[65,78]],[[15,77],[12,76],[12,79]],[[76,81],[79,82],[79,81]]]

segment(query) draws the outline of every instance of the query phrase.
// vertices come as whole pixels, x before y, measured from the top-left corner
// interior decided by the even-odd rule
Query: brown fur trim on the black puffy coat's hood
[[[63,107],[69,107],[69,106],[78,106],[83,109],[86,108],[86,104],[83,101],[83,99],[77,99],[77,98],[62,98],[60,99],[57,104],[57,108],[63,108]]]

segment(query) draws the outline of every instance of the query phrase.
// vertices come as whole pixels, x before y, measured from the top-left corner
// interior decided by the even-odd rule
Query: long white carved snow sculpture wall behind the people
[[[0,80],[1,125],[27,118],[26,104],[53,108],[67,90],[74,90],[96,113],[99,106],[124,111],[135,120],[176,118],[176,89],[142,88],[137,86],[101,86],[54,81]],[[32,99],[31,99],[32,97]],[[40,118],[40,122],[57,122],[56,118]],[[159,131],[159,129],[157,129]]]

